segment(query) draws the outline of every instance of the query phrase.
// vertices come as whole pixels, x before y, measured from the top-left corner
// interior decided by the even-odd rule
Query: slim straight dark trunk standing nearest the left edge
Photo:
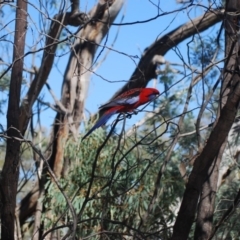
[[[14,240],[14,219],[19,175],[20,138],[19,103],[23,72],[23,55],[27,31],[27,2],[17,1],[13,49],[13,67],[7,111],[7,149],[1,174],[1,239]]]

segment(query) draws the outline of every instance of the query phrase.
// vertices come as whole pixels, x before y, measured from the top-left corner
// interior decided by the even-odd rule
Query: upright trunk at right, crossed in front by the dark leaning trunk
[[[240,1],[230,0],[226,2],[226,12],[240,11]],[[225,72],[224,81],[221,89],[221,103],[219,109],[225,106],[228,94],[229,85],[231,84],[232,74],[228,72],[230,69],[236,69],[236,56],[233,53],[238,53],[239,44],[237,42],[238,26],[236,21],[237,16],[226,14],[225,19]],[[233,55],[232,55],[233,54]],[[213,162],[212,167],[209,169],[209,179],[207,179],[203,185],[203,191],[199,201],[198,215],[195,229],[195,239],[204,240],[209,239],[213,229],[213,214],[214,203],[218,185],[218,175],[220,163],[223,156],[223,151],[226,146],[226,141],[221,146],[216,161]]]

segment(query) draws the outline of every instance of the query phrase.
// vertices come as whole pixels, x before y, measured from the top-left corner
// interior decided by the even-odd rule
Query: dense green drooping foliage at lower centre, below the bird
[[[159,153],[158,149],[165,143],[156,139],[153,144],[147,144],[149,138],[140,143],[131,138],[124,142],[113,136],[99,152],[103,136],[99,129],[83,142],[69,141],[65,149],[71,167],[66,179],[60,182],[81,219],[78,237],[103,229],[119,236],[141,235],[144,239],[169,236],[167,227],[175,220],[174,209],[179,204],[184,183],[175,161],[171,162],[152,202],[155,181],[166,156],[166,152]],[[56,185],[49,180],[46,188],[44,203],[52,212],[48,224],[54,224],[62,214],[65,223],[67,219],[71,221],[70,211],[66,212],[67,203]],[[162,233],[158,233],[159,227]]]

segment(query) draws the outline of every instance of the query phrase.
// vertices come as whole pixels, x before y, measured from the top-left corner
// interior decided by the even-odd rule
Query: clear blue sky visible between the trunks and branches
[[[27,42],[28,47],[26,51],[31,48],[33,45],[36,44],[38,39],[38,33],[41,30],[47,29],[47,21],[38,17],[38,10],[36,7],[40,9],[39,2],[30,1],[33,5],[29,6],[30,12],[30,23],[29,23],[29,31],[27,35]],[[81,10],[88,12],[94,4],[96,4],[96,0],[81,0]],[[206,3],[207,1],[198,1],[201,4]],[[183,7],[181,4],[177,4],[175,0],[157,0],[157,1],[150,1],[150,0],[128,0],[126,1],[122,11],[118,15],[115,22],[119,23],[121,18],[124,14],[123,22],[135,22],[135,21],[142,21],[152,18],[158,14],[159,9],[155,6],[159,4],[160,6],[160,14],[161,11],[173,11]],[[48,6],[49,7],[49,6]],[[50,9],[50,8],[49,8]],[[48,9],[48,10],[49,10]],[[6,7],[7,10],[7,7]],[[44,12],[44,8],[41,8],[41,11]],[[3,21],[11,21],[14,19],[14,12],[6,11],[5,19]],[[167,32],[171,31],[172,29],[178,27],[181,24],[184,24],[190,20],[190,18],[195,18],[205,12],[204,8],[196,7],[196,8],[189,8],[185,11],[179,11],[173,14],[168,14],[165,16],[161,16],[158,19],[144,23],[144,24],[135,24],[135,25],[126,25],[120,27],[120,32],[117,38],[115,45],[113,46],[119,52],[123,52],[126,55],[137,56],[135,59],[136,63],[138,63],[139,59],[141,58],[141,54],[143,53],[144,49],[152,44],[158,37],[166,34]],[[55,14],[55,10],[50,9],[49,16],[52,17]],[[39,23],[40,27],[39,27]],[[46,25],[44,25],[46,23]],[[9,29],[13,28],[13,23],[8,25]],[[36,31],[36,26],[38,30]],[[76,29],[71,28],[74,32]],[[113,39],[116,36],[118,31],[118,26],[112,26],[109,32],[107,46],[111,46]],[[207,33],[205,33],[207,34]],[[44,38],[40,39],[39,44],[37,47],[43,47]],[[186,56],[186,41],[180,44],[179,49],[183,56]],[[101,54],[99,60],[105,55],[106,50]],[[97,69],[97,74],[103,76],[104,78],[108,79],[111,82],[104,81],[100,77],[96,75],[92,75],[90,88],[88,93],[88,98],[86,101],[86,109],[91,113],[95,113],[98,107],[105,103],[128,79],[130,78],[132,72],[136,67],[136,63],[134,63],[131,58],[126,55],[122,55],[111,51],[108,54],[107,59],[103,62],[103,64]],[[64,57],[56,58],[57,68],[54,68],[49,76],[48,83],[50,84],[51,88],[54,90],[55,94],[60,98],[61,93],[61,85],[63,74],[65,71],[65,67],[67,65],[69,54],[64,55]],[[174,51],[169,51],[165,59],[169,62],[180,63],[181,60],[175,54]],[[10,59],[10,57],[6,57]],[[35,65],[39,67],[39,60],[41,58],[41,53],[38,53],[35,57]],[[30,68],[30,63],[32,62],[32,56],[26,58],[25,67]],[[27,81],[29,81],[29,75],[25,74]],[[152,83],[149,84],[151,86]],[[158,85],[158,88],[161,90],[161,84]],[[26,90],[26,89],[25,89]],[[23,93],[25,92],[23,89]],[[24,94],[23,94],[24,95]],[[46,87],[44,87],[42,93],[44,96],[44,100],[54,103],[53,99],[48,93]],[[55,113],[52,110],[44,111],[41,113],[41,122],[44,126],[48,128],[53,123],[55,117]],[[0,116],[0,122],[5,125],[5,118],[6,116]],[[128,123],[130,127],[131,124],[134,123],[139,119],[138,116],[135,119],[131,120]]]

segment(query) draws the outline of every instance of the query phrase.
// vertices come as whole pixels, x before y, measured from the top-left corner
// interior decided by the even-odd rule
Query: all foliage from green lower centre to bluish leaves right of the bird
[[[215,53],[210,46],[216,46],[216,42],[209,38],[204,43],[199,40],[194,44],[191,61],[198,68],[207,66]],[[130,137],[123,140],[121,134],[115,134],[104,143],[106,132],[98,129],[83,142],[68,142],[65,154],[71,166],[60,182],[78,214],[78,238],[94,236],[100,239],[103,231],[108,232],[109,239],[122,239],[123,236],[170,238],[185,180],[192,169],[192,158],[211,131],[208,128],[196,133],[196,121],[218,76],[219,73],[212,69],[194,86],[187,113],[183,113],[192,79],[187,78],[175,87],[176,74],[166,66],[159,77],[164,94],[149,110],[161,106],[160,113]],[[215,120],[218,94],[217,89],[210,97],[198,127]],[[184,133],[186,136],[179,136]],[[177,143],[171,150],[175,140]],[[184,175],[179,170],[181,164],[185,166]],[[43,220],[49,228],[57,222],[66,229],[73,221],[66,200],[50,180],[46,189],[44,204],[48,211]],[[58,219],[62,219],[61,222]]]

